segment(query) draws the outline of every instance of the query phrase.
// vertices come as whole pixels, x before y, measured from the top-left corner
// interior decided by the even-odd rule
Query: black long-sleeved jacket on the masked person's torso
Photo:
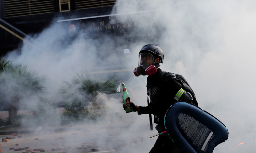
[[[154,123],[164,125],[165,114],[169,107],[176,102],[174,97],[182,88],[182,85],[176,81],[173,73],[160,78],[159,73],[161,71],[158,68],[156,74],[147,77],[147,91],[150,97],[150,103],[146,107],[139,106],[139,114],[153,114]]]

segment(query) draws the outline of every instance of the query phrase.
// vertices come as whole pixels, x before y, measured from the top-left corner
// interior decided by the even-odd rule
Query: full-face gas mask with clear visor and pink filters
[[[139,66],[133,71],[136,77],[140,75],[152,75],[156,73],[154,57],[149,53],[139,54]]]

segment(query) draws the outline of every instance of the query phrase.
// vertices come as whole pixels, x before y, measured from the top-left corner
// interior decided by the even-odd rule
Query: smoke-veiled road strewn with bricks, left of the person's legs
[[[15,138],[6,139],[10,140],[9,142],[0,142],[0,148],[2,153],[22,153],[25,150],[14,151],[10,148],[23,149],[25,147],[29,147],[32,151],[41,148],[44,152],[51,153],[134,153],[149,152],[156,140],[156,137],[148,139],[153,133],[149,132],[150,128],[147,125],[136,126],[129,130],[126,127],[102,127],[104,126],[76,126],[75,128],[69,127],[63,132],[41,130],[39,133],[18,134],[17,136],[1,135],[0,140],[6,137]],[[156,134],[156,131],[154,132]]]

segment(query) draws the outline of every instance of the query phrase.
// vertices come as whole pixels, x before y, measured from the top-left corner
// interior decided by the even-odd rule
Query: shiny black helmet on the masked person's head
[[[147,45],[143,46],[142,49],[140,50],[139,55],[142,53],[151,54],[154,57],[154,63],[155,63],[155,59],[159,58],[159,62],[155,63],[156,67],[160,66],[159,63],[163,63],[163,51],[157,45],[147,44]]]

